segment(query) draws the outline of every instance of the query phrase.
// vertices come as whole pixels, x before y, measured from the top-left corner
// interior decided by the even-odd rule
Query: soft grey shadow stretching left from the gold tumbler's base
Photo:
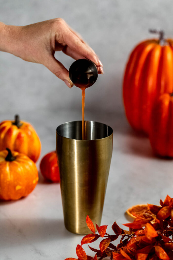
[[[63,220],[57,219],[5,219],[1,220],[1,247],[51,242],[74,238],[75,235],[66,230]],[[79,238],[80,241],[80,238]]]

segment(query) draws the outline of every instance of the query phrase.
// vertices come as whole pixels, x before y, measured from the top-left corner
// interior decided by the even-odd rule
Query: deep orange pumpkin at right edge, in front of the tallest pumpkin
[[[173,95],[164,93],[151,113],[150,143],[156,155],[173,157]]]

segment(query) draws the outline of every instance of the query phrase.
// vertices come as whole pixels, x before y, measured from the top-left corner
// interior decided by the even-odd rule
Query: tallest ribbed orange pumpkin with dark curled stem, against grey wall
[[[157,31],[151,31],[158,33]],[[173,92],[173,40],[146,40],[138,44],[127,62],[123,100],[130,125],[148,134],[154,100],[161,93]]]

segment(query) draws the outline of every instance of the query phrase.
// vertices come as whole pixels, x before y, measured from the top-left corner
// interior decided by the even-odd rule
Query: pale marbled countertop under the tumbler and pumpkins
[[[36,129],[42,143],[41,157],[55,149],[56,127],[66,121],[80,120],[80,111],[23,112],[21,118]],[[0,121],[12,119],[11,113],[0,113]],[[100,121],[114,130],[102,225],[107,232],[116,222],[128,220],[126,209],[135,204],[158,204],[167,194],[173,197],[173,161],[156,158],[148,138],[136,135],[124,114],[102,114],[86,111],[86,120]],[[41,158],[40,157],[40,158]],[[39,162],[37,166],[39,168]],[[26,198],[0,202],[1,260],[64,260],[77,258],[75,248],[83,236],[64,227],[59,184],[46,183],[40,176],[38,185]],[[116,244],[116,241],[114,242]],[[91,244],[91,246],[93,246]],[[99,248],[99,241],[94,242]],[[83,246],[87,253],[88,245]]]

